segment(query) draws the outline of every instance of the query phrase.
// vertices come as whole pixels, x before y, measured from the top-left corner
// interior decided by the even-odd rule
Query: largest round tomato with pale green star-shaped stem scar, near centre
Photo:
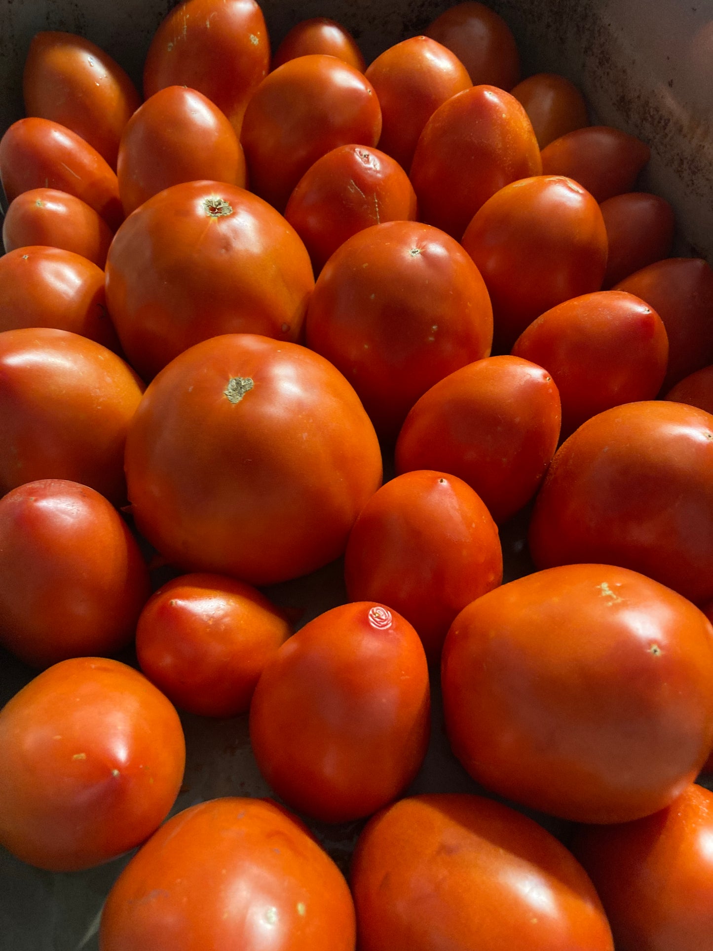
[[[271,584],[346,547],[381,484],[349,383],[304,347],[205,340],[148,387],[126,444],[140,531],[173,564]]]

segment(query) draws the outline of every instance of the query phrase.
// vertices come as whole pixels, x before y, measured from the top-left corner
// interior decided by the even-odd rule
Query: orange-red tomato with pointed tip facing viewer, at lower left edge
[[[183,780],[176,710],[144,676],[80,657],[0,711],[0,843],[69,872],[113,859],[164,821]]]

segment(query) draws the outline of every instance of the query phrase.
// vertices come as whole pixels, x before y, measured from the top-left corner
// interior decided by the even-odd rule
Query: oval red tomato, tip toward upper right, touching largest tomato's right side
[[[459,476],[504,522],[537,491],[559,433],[560,398],[547,370],[517,357],[481,359],[416,402],[396,441],[396,472]]]

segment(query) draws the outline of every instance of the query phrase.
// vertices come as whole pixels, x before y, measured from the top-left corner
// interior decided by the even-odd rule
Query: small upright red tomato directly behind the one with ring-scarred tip
[[[497,526],[471,487],[421,470],[382,486],[349,536],[351,601],[380,601],[414,625],[437,663],[453,618],[503,580]]]

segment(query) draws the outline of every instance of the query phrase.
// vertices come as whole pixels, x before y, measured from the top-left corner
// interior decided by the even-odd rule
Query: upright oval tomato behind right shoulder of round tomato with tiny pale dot
[[[502,188],[462,244],[491,296],[495,345],[506,350],[550,307],[598,291],[607,267],[599,205],[576,182],[552,175]]]

